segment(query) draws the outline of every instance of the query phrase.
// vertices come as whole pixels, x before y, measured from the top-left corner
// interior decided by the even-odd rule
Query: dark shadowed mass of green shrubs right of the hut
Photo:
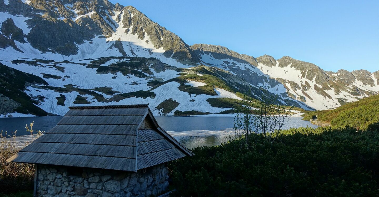
[[[243,140],[243,139],[242,139]],[[177,196],[377,196],[379,132],[348,127],[286,130],[193,149],[170,164]]]

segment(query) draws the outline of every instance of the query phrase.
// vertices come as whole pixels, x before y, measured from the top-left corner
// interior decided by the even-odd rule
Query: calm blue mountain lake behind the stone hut
[[[33,130],[48,131],[63,116],[41,116],[22,118],[0,118],[0,130],[15,131],[17,136],[29,135],[25,125],[34,121]],[[224,143],[229,136],[234,136],[233,117],[209,116],[155,116],[158,124],[188,148],[197,146],[213,146]],[[283,129],[318,126],[304,121],[302,117],[291,117]]]

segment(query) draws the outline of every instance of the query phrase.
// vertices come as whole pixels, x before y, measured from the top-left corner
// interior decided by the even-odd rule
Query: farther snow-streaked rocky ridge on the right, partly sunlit
[[[221,46],[196,44],[191,48],[205,65],[230,71],[252,86],[261,86],[268,76],[270,92],[317,110],[334,109],[379,92],[377,76],[366,70],[334,73],[288,56],[276,60],[264,55],[255,59]]]

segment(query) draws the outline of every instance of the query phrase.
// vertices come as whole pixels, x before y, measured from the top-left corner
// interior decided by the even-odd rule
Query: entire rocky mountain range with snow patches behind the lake
[[[379,93],[379,71],[332,72],[289,56],[188,45],[108,0],[0,0],[0,76],[0,115],[14,117],[141,103],[157,115],[229,113],[214,101],[247,92],[259,100],[267,77],[276,104],[305,110]]]

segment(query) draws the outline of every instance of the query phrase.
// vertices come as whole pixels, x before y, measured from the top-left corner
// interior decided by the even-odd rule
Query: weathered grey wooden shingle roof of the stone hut
[[[158,126],[146,104],[69,109],[7,161],[136,172],[193,155]]]

